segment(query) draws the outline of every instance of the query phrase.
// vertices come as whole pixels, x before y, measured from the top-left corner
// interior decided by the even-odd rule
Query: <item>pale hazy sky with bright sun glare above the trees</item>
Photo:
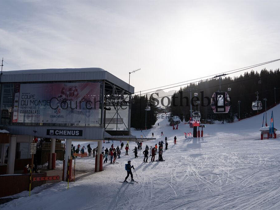
[[[3,71],[100,67],[128,82],[141,68],[130,84],[145,93],[280,58],[280,1],[0,1],[0,8]],[[254,70],[264,67],[280,61]]]

